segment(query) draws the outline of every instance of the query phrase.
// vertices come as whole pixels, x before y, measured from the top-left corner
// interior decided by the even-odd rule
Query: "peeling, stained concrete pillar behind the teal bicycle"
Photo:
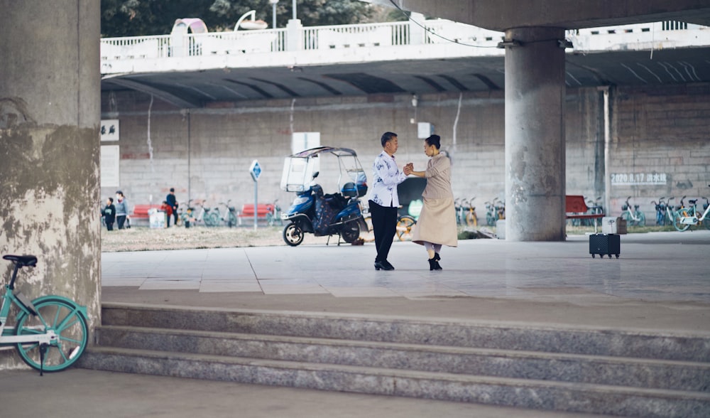
[[[18,289],[99,323],[99,1],[0,0],[0,254],[34,254]],[[2,282],[11,264],[0,259]],[[0,351],[0,369],[20,364]]]

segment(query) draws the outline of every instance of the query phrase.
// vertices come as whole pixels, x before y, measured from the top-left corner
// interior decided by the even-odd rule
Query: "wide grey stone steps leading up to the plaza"
[[[710,336],[104,304],[80,367],[629,417],[710,417]]]

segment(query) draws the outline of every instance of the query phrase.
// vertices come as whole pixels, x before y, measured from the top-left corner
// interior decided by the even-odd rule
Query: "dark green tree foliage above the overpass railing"
[[[293,18],[293,1],[276,4],[276,21],[283,28]],[[163,35],[178,18],[201,18],[209,31],[232,30],[250,10],[271,27],[268,0],[101,0],[101,33],[104,37]],[[373,6],[358,0],[297,0],[296,18],[304,26],[364,23]]]

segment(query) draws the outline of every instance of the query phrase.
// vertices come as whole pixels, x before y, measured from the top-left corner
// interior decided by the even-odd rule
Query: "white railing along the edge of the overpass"
[[[422,26],[420,26],[422,25]],[[289,43],[290,34],[300,43]],[[684,36],[684,34],[687,34]],[[657,22],[567,31],[575,50],[665,48],[710,45],[710,28],[680,22]],[[359,25],[313,26],[307,28],[264,29],[191,33],[179,35],[102,38],[102,73],[111,72],[123,62],[170,60],[184,57],[228,56],[258,53],[283,53],[356,48],[386,48],[405,45],[459,44],[493,48],[503,41],[502,32],[443,19],[413,22],[364,23]],[[293,39],[292,39],[293,41]],[[295,45],[295,46],[294,46]],[[650,45],[650,46],[649,46]],[[378,49],[379,50],[379,49]],[[460,53],[466,53],[461,51]],[[493,53],[493,51],[491,51]],[[151,61],[152,62],[152,61]],[[169,65],[168,65],[169,66]],[[153,68],[160,68],[155,64]]]

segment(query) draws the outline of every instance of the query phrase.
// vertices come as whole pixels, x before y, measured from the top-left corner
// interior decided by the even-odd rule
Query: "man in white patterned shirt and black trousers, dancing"
[[[395,267],[387,261],[387,257],[397,232],[397,208],[399,207],[397,185],[405,181],[412,166],[407,164],[403,171],[400,171],[395,162],[394,154],[398,149],[397,134],[385,132],[380,142],[382,152],[373,164],[374,184],[369,200],[372,231],[377,249],[375,269],[393,270]]]

